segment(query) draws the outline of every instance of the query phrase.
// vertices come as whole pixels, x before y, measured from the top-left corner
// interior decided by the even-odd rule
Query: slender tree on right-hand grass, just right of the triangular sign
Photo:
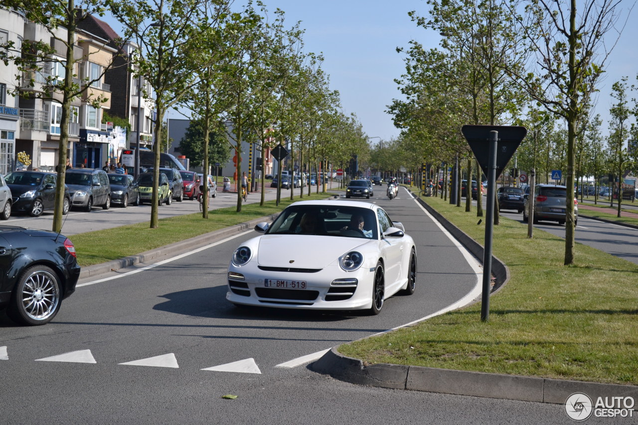
[[[533,61],[526,71],[508,69],[534,100],[567,121],[567,187],[574,187],[577,123],[590,104],[610,51],[604,36],[618,20],[616,0],[537,0],[526,6],[514,31],[526,36]],[[516,16],[518,11],[510,8]],[[564,264],[574,264],[574,191],[567,191]]]

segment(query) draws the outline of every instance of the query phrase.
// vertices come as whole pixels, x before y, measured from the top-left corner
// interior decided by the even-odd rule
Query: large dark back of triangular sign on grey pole
[[[476,156],[479,165],[485,175],[489,163],[489,132],[498,131],[498,144],[496,145],[496,178],[501,175],[503,168],[512,159],[517,147],[521,144],[527,129],[521,126],[473,126],[466,125],[461,128],[463,136],[468,141],[470,149]]]

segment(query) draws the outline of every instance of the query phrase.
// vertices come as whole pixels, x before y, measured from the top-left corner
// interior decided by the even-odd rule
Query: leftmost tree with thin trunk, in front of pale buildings
[[[27,81],[27,86],[16,85],[15,94],[24,98],[40,98],[48,101],[56,101],[61,105],[60,116],[60,139],[58,143],[57,161],[57,183],[56,183],[56,204],[53,215],[54,232],[59,232],[62,228],[62,211],[64,202],[64,178],[67,161],[67,149],[69,142],[69,123],[71,122],[71,102],[80,97],[84,97],[87,104],[100,108],[102,103],[107,101],[104,93],[93,88],[94,82],[100,82],[114,64],[110,61],[101,68],[101,72],[93,77],[78,77],[80,74],[79,64],[87,61],[93,54],[90,50],[78,50],[77,27],[82,20],[87,19],[92,14],[102,16],[108,0],[83,0],[75,3],[75,0],[63,2],[55,0],[33,1],[33,0],[5,0],[4,8],[15,8],[24,13],[27,20],[41,25],[49,34],[50,39],[46,40],[24,40],[22,49],[12,42],[3,43],[0,46],[0,59],[8,64],[13,61],[17,65],[20,73],[31,75]],[[53,40],[53,41],[52,41]],[[98,40],[93,42],[100,43]],[[106,42],[104,43],[106,45]],[[55,46],[61,46],[58,51]],[[117,54],[120,54],[118,51]],[[64,56],[64,59],[61,57]],[[63,74],[48,73],[45,68],[56,67],[63,69]],[[36,84],[36,74],[43,77],[42,90],[33,91]]]

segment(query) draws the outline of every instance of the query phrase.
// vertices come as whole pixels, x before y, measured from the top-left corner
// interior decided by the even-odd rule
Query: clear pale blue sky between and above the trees
[[[341,93],[344,111],[357,114],[367,135],[384,140],[397,137],[399,130],[392,124],[392,117],[385,113],[393,98],[401,98],[394,78],[399,78],[404,71],[404,56],[397,54],[396,47],[408,47],[410,40],[436,47],[440,40],[439,34],[417,27],[408,17],[411,10],[426,15],[426,1],[263,1],[269,11],[276,8],[285,11],[289,27],[302,21],[301,27],[306,29],[306,52],[323,52],[322,67],[330,75],[330,88]],[[236,0],[235,3],[244,2]],[[635,15],[634,11],[632,16]],[[112,20],[107,21],[113,24]],[[113,27],[120,31],[116,24]],[[597,112],[603,119],[609,116],[611,84],[622,76],[629,77],[629,84],[638,84],[637,39],[638,28],[630,22],[607,62],[607,74],[599,86],[601,93],[597,103]],[[607,123],[602,130],[607,133]],[[378,142],[378,138],[372,142]]]

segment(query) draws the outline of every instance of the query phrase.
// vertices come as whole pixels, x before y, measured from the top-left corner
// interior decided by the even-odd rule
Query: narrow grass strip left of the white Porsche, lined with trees
[[[260,207],[259,204],[244,204],[241,213],[236,212],[237,207],[214,209],[209,211],[208,219],[202,218],[202,213],[188,214],[163,218],[159,220],[158,228],[149,228],[149,221],[146,221],[77,234],[71,236],[70,239],[75,246],[80,265],[100,264],[214,232],[220,228],[276,214],[292,202],[325,199],[327,196],[329,196],[328,193],[313,193],[310,196],[308,193],[304,193],[304,198],[300,199],[298,195],[295,195],[293,201],[290,200],[289,196],[282,196],[279,206],[275,205],[274,200],[265,202],[263,207]]]

